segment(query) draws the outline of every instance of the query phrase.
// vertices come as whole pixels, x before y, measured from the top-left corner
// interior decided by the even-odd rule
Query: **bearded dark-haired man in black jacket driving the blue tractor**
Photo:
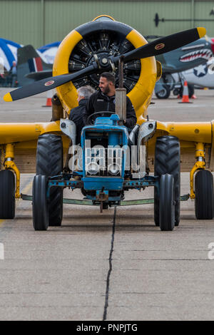
[[[88,124],[88,116],[102,111],[115,112],[115,78],[111,73],[103,72],[99,81],[100,91],[93,93],[86,105],[86,111],[83,113],[83,122]],[[131,100],[126,96],[126,120],[123,125],[127,128],[133,128],[136,124],[136,112]]]

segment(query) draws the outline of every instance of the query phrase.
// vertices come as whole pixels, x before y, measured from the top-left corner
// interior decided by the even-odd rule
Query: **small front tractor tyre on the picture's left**
[[[35,175],[33,182],[33,225],[34,230],[47,230],[49,227],[49,206],[46,198],[46,175]]]

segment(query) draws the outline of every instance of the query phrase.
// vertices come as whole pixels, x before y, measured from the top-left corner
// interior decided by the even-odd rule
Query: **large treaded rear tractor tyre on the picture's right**
[[[180,143],[175,136],[161,136],[156,140],[154,175],[174,177],[175,226],[180,222]],[[154,220],[159,226],[159,197],[154,187]]]

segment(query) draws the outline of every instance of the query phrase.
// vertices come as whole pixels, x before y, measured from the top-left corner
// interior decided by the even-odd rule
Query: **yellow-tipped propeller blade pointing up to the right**
[[[198,27],[158,38],[156,41],[152,41],[151,43],[145,44],[144,46],[136,48],[133,51],[129,51],[128,53],[124,53],[123,61],[127,62],[132,61],[133,59],[157,56],[161,55],[161,53],[173,51],[176,48],[185,46],[186,44],[205,36],[205,33],[205,28]],[[113,61],[115,62],[117,60],[115,59]]]

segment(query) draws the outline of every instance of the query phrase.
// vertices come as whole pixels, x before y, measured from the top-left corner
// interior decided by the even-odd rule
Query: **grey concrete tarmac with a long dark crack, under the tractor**
[[[4,103],[1,122],[51,119],[46,93]],[[212,120],[214,91],[196,91],[193,104],[158,100],[150,118]],[[21,175],[31,194],[34,175]],[[181,194],[189,174],[181,175]],[[126,200],[153,197],[153,187]],[[64,197],[82,198],[78,190]],[[195,220],[194,202],[181,202],[180,225],[161,232],[153,205],[110,208],[64,205],[61,227],[35,232],[31,202],[16,202],[14,220],[0,221],[0,320],[213,320],[214,220]],[[214,257],[213,257],[214,258]]]

